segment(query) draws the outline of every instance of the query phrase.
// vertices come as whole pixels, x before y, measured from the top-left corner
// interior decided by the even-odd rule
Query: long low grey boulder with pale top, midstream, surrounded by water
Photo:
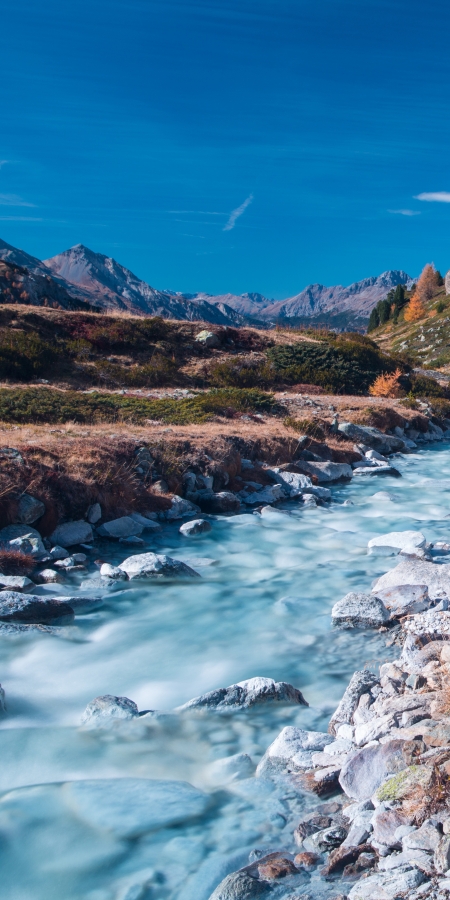
[[[308,706],[301,691],[285,681],[274,681],[273,678],[249,678],[227,688],[208,691],[200,697],[188,700],[177,711],[185,709],[248,709],[257,703],[298,703]]]

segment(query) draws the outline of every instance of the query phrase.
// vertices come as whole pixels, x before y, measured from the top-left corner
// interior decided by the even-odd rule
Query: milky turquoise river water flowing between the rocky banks
[[[167,525],[145,549],[191,561],[201,579],[122,584],[57,636],[0,636],[3,900],[208,900],[255,848],[294,850],[292,832],[315,799],[253,777],[250,763],[226,783],[217,761],[245,753],[256,765],[284,725],[326,731],[353,671],[395,655],[381,634],[330,623],[336,600],[368,591],[396,563],[368,555],[369,538],[406,529],[450,536],[450,450],[436,445],[395,465],[402,478],[334,486],[327,508],[291,502],[267,518],[219,517],[210,534],[189,539],[180,523]],[[392,499],[374,498],[378,491]],[[130,555],[109,543],[99,552],[116,562]],[[86,579],[78,589],[89,592]],[[55,586],[39,591],[55,595]],[[101,694],[170,712],[255,675],[300,688],[309,708],[79,727]],[[104,781],[80,784],[89,779]],[[137,798],[128,779],[156,783],[141,781]],[[319,896],[320,879],[305,879]]]

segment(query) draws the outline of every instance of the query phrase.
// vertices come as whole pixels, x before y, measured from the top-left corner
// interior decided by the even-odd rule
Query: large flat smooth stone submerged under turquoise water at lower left
[[[63,785],[66,803],[91,827],[135,838],[205,812],[209,798],[184,781],[104,778]]]

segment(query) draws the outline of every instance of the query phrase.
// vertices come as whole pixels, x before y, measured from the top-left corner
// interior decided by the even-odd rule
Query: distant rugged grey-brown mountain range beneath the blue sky
[[[391,288],[412,283],[406,272],[390,270],[348,287],[310,284],[293,297],[275,301],[258,293],[212,295],[160,291],[115,259],[94,253],[83,244],[42,261],[0,240],[0,259],[6,266],[15,267],[16,279],[28,278],[28,283],[35,285],[34,293],[30,294],[34,303],[47,302],[50,306],[69,309],[88,305],[97,310],[125,310],[233,326],[267,327],[275,322],[297,324],[301,320],[326,320],[330,324],[333,320],[349,321],[362,326]],[[11,278],[12,275],[10,282]],[[3,297],[5,301],[7,297]]]

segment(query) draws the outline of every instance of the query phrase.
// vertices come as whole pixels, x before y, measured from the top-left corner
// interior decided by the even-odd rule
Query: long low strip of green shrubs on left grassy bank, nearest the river
[[[174,425],[188,425],[207,422],[217,415],[233,416],[239,412],[274,409],[275,401],[271,394],[238,388],[208,391],[182,400],[84,394],[51,388],[0,390],[0,421],[18,424],[121,420],[138,424],[152,419]]]

